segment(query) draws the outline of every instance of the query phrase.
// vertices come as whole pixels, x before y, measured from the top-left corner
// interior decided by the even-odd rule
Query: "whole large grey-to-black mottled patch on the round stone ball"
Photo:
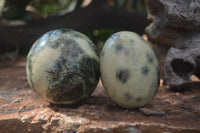
[[[48,72],[47,92],[47,96],[54,101],[80,98],[92,92],[98,83],[99,63],[86,55],[75,40],[62,40],[60,56],[54,64]]]

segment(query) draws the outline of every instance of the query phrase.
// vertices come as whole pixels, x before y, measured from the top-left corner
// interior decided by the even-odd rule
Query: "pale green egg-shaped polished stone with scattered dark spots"
[[[124,108],[143,107],[157,93],[160,70],[148,43],[133,32],[112,35],[100,55],[102,83],[109,97]]]

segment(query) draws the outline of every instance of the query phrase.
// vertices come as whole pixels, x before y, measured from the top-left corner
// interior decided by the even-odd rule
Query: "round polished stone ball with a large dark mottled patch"
[[[53,104],[75,104],[89,96],[99,81],[99,56],[88,37],[69,29],[40,37],[27,56],[29,85]]]

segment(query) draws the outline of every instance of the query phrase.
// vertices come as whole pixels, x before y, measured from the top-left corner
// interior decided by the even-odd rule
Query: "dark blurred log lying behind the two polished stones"
[[[58,28],[70,28],[82,33],[99,28],[117,28],[144,33],[148,24],[143,14],[110,6],[106,0],[93,0],[89,6],[63,16],[32,20],[18,26],[0,23],[0,49],[6,50],[18,46],[20,52],[27,52],[38,37]]]

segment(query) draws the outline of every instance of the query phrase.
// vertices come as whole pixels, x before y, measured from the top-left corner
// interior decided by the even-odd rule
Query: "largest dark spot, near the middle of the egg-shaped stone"
[[[127,68],[119,68],[116,70],[116,78],[123,84],[131,77],[131,73]]]

